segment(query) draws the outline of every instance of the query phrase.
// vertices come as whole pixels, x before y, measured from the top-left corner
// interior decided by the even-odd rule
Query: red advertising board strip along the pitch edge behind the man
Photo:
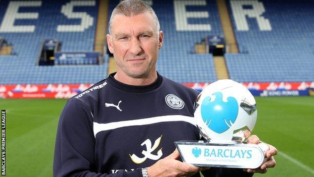
[[[183,83],[202,90],[210,83]],[[306,90],[314,88],[314,82],[245,82],[250,90]],[[70,98],[92,84],[17,84],[0,85],[0,98]]]

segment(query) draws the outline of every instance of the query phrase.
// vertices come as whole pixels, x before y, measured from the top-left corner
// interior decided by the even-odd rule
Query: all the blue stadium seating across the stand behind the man
[[[0,22],[4,21],[10,2],[1,1]],[[0,36],[14,45],[15,53],[0,55],[0,84],[95,83],[106,77],[108,55],[104,64],[98,66],[36,65],[44,38],[59,39],[61,51],[94,50],[99,0],[22,2],[28,7],[21,6],[18,12],[37,13],[37,17],[33,14],[33,19],[16,19],[14,26],[24,26],[19,29],[3,28],[8,25],[0,24]],[[158,71],[177,82],[217,80],[212,54],[193,53],[194,44],[206,35],[223,34],[216,1],[146,2],[155,10],[164,31]],[[237,5],[243,2],[249,1],[226,2],[240,48],[240,53],[224,55],[230,78],[240,82],[312,81],[314,4],[305,0],[259,0]],[[118,3],[118,0],[109,1],[109,14]],[[238,10],[232,9],[231,3],[236,4]],[[69,13],[72,12],[69,4],[75,5],[76,17]],[[258,21],[250,13],[241,18],[243,11],[239,11],[239,7],[248,12],[261,12],[263,18]],[[82,23],[77,16],[84,17]],[[12,21],[14,16],[7,18]],[[80,24],[86,26],[82,28]],[[33,30],[25,28],[31,25]]]

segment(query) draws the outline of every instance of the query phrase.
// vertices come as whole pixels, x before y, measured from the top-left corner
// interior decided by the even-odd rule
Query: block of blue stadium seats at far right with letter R
[[[233,1],[233,3],[239,3]],[[241,2],[241,1],[240,1]],[[238,20],[248,22],[248,29],[237,27],[235,16],[241,11],[231,8],[233,29],[240,50],[248,53],[225,54],[230,78],[241,82],[272,81],[312,81],[314,79],[314,4],[310,1],[259,1],[265,12],[262,16],[269,20],[261,25],[256,18]],[[258,6],[256,6],[258,7]],[[252,5],[243,8],[254,9]],[[256,9],[255,9],[256,10]],[[236,14],[236,15],[234,15]],[[240,23],[239,23],[240,22]],[[262,27],[260,27],[261,25]],[[266,28],[265,28],[266,26]]]

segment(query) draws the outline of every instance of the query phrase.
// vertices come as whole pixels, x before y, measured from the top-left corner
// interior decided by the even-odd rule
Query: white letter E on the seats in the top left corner
[[[2,33],[26,33],[34,32],[34,25],[14,25],[17,19],[38,19],[39,14],[36,12],[20,13],[20,7],[40,7],[41,1],[10,1],[5,17],[0,26]]]

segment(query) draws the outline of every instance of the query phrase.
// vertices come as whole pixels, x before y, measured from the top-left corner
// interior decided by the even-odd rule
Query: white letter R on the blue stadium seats
[[[271,31],[272,27],[268,19],[262,14],[265,12],[264,4],[255,1],[230,1],[232,15],[238,31],[249,31],[246,17],[255,18],[261,31]],[[244,9],[243,6],[252,6],[252,9]]]

